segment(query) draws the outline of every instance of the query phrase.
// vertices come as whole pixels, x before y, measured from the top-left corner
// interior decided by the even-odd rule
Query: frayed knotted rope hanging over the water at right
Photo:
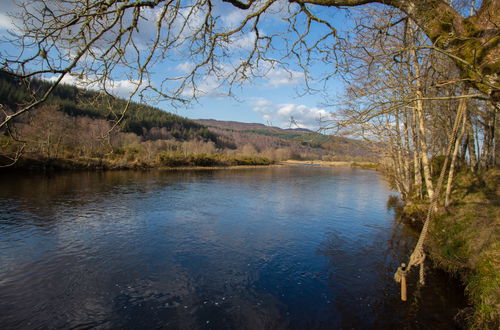
[[[450,141],[448,142],[448,147],[446,150],[446,158],[443,164],[443,167],[441,168],[441,173],[439,174],[439,179],[437,182],[436,186],[436,191],[434,192],[434,195],[432,196],[431,203],[429,205],[429,209],[427,210],[427,216],[425,218],[424,226],[422,227],[422,231],[420,232],[420,236],[418,238],[417,244],[415,245],[415,249],[413,250],[413,253],[410,255],[410,260],[408,261],[408,266],[405,264],[401,264],[400,267],[398,267],[396,273],[394,274],[394,280],[397,283],[402,283],[406,282],[403,281],[406,278],[406,274],[408,274],[413,266],[420,266],[420,271],[419,271],[419,281],[420,284],[424,285],[425,284],[425,271],[424,271],[424,261],[425,261],[425,251],[424,251],[424,242],[427,237],[427,233],[429,232],[429,224],[430,220],[432,218],[432,214],[434,213],[434,210],[437,208],[437,202],[439,199],[439,194],[441,193],[441,188],[443,186],[443,181],[444,181],[444,176],[446,173],[446,168],[448,167],[448,162],[450,158],[450,154],[452,152],[452,148],[455,144],[455,139],[457,138],[460,123],[462,120],[464,120],[464,114],[465,114],[465,108],[466,108],[466,101],[465,99],[461,99],[459,104],[458,104],[458,111],[457,115],[455,117],[455,122],[453,123],[453,131],[451,134]],[[406,295],[406,285],[401,286],[401,290],[405,291]]]

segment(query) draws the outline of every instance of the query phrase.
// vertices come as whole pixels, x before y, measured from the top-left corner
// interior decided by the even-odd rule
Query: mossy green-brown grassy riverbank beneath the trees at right
[[[432,220],[426,248],[433,261],[459,275],[473,308],[472,329],[500,327],[500,170],[460,173],[453,200]],[[416,212],[413,205],[411,212]]]

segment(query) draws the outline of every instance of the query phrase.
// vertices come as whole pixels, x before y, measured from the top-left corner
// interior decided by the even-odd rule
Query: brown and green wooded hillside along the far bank
[[[49,86],[43,80],[31,80],[26,86],[0,71],[0,100],[5,113]],[[103,93],[60,85],[42,106],[17,117],[9,130],[0,132],[0,165],[19,157],[24,163],[37,164],[71,160],[69,168],[87,166],[82,164],[211,166],[376,158],[366,143],[306,129],[194,121],[138,103],[131,103],[123,113],[125,104],[125,100]]]

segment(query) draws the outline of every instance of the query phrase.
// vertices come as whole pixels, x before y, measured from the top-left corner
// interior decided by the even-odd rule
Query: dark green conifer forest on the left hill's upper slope
[[[32,80],[31,90],[41,94],[50,84],[43,80]],[[94,91],[84,91],[72,85],[59,85],[45,104],[56,105],[70,116],[86,116],[92,119],[116,121],[120,119],[126,101],[99,97]],[[0,70],[0,99],[8,108],[15,109],[29,99],[28,89],[9,74]],[[146,138],[173,137],[180,140],[199,138],[214,140],[204,125],[187,118],[162,111],[158,108],[132,103],[124,114],[120,125],[123,132],[132,132]],[[163,129],[163,133],[161,132]],[[162,136],[167,134],[168,136]],[[153,136],[152,136],[153,135]],[[160,136],[154,136],[160,135]]]

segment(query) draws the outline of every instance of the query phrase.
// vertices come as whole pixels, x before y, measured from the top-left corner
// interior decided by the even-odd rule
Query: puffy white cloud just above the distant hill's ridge
[[[332,119],[332,114],[317,107],[303,104],[274,104],[263,98],[252,100],[253,110],[262,115],[262,119],[272,125],[291,128],[319,129],[324,121]]]

